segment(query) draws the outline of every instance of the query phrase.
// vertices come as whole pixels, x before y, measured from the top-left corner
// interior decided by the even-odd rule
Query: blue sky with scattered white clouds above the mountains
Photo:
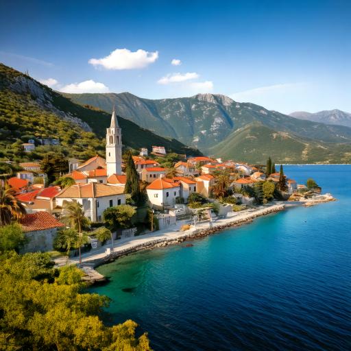
[[[350,18],[350,0],[0,0],[0,62],[67,93],[351,112]]]

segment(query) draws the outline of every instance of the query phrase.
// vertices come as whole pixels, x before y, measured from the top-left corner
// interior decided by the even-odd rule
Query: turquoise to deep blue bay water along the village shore
[[[286,166],[337,202],[99,267],[108,320],[155,350],[351,350],[351,166]]]

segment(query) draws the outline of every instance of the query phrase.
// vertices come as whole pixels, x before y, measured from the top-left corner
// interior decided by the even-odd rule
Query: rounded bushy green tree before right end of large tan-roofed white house
[[[132,228],[132,217],[136,214],[134,207],[130,205],[119,205],[104,210],[104,221],[110,228]]]

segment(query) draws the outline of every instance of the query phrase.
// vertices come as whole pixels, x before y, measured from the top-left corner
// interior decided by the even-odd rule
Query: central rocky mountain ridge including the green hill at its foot
[[[279,162],[351,162],[351,128],[296,119],[224,95],[158,100],[130,93],[64,96],[106,111],[114,105],[141,127],[214,156],[265,162],[274,153]]]

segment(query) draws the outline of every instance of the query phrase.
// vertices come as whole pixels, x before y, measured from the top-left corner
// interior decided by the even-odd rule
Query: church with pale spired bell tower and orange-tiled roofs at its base
[[[69,169],[71,178],[76,183],[86,184],[98,182],[119,185],[124,181],[122,173],[122,130],[117,121],[116,110],[113,108],[110,128],[106,129],[106,159],[97,155],[79,164],[73,160]]]

